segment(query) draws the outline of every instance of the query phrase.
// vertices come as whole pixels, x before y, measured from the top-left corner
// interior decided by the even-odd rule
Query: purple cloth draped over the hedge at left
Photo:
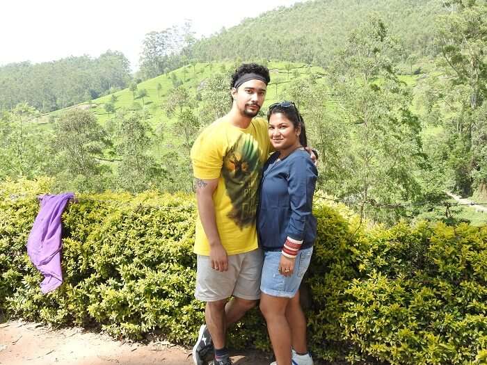
[[[61,272],[61,215],[73,193],[42,195],[40,211],[27,241],[27,253],[36,268],[44,275],[40,291],[49,293],[63,282]]]

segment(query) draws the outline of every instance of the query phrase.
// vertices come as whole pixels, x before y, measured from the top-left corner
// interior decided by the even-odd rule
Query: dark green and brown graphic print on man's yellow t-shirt
[[[242,133],[223,156],[221,170],[227,195],[232,202],[232,211],[227,216],[240,229],[255,222],[261,170],[257,141],[250,134]]]

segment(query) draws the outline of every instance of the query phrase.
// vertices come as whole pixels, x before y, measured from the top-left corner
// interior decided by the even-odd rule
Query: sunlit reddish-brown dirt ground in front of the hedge
[[[231,353],[234,365],[269,365],[269,354]],[[166,341],[129,343],[106,334],[71,327],[53,330],[39,323],[0,324],[1,365],[184,365],[193,364],[191,349]]]

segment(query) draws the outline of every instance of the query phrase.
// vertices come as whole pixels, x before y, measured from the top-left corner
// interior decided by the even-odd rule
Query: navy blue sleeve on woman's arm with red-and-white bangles
[[[287,177],[291,216],[286,234],[296,241],[303,241],[306,220],[312,213],[314,188],[318,172],[308,156],[294,159]]]

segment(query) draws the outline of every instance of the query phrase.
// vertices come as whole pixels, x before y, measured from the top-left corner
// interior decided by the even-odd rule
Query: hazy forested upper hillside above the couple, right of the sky
[[[402,60],[434,55],[434,19],[443,11],[439,0],[306,1],[199,40],[193,58],[200,62],[260,58],[325,66],[349,32],[374,13],[399,38]]]

